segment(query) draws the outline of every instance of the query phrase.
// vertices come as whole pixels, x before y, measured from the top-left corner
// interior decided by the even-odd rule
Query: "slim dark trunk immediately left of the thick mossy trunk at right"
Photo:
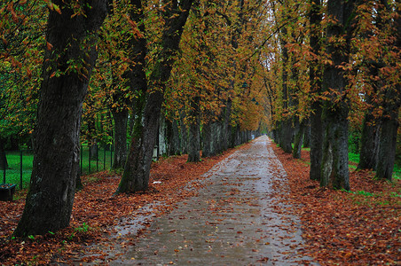
[[[320,52],[320,22],[321,18],[321,0],[310,0],[310,25],[311,25],[311,52],[318,55]],[[318,95],[321,92],[321,68],[317,59],[311,60],[309,66],[311,91]],[[322,123],[322,106],[318,99],[313,100],[311,104],[311,170],[309,176],[311,180],[321,179],[321,160],[323,149],[323,123]]]

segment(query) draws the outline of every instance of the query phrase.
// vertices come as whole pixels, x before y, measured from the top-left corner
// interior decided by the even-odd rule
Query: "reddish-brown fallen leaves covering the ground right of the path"
[[[373,173],[350,170],[352,192],[320,188],[309,179],[309,153],[302,160],[271,144],[286,169],[290,192],[303,223],[305,254],[322,265],[399,265],[401,184],[373,180]]]

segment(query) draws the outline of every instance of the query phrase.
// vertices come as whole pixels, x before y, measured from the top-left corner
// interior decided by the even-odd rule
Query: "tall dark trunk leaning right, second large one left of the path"
[[[131,2],[136,1],[138,0],[131,0]],[[140,4],[140,1],[138,2]],[[129,157],[116,193],[145,191],[148,188],[153,147],[156,142],[157,129],[159,128],[161,104],[164,100],[166,82],[169,80],[192,4],[193,0],[180,1],[179,4],[177,1],[173,1],[164,7],[165,25],[161,36],[161,51],[158,58],[155,59],[156,63],[150,75],[152,90],[146,100],[144,124],[135,129],[136,132],[134,132],[134,137],[131,140]],[[138,20],[141,20],[140,16],[134,18],[134,21]],[[143,51],[145,51],[145,48],[143,48]],[[145,64],[142,66],[145,66]],[[145,76],[143,67],[141,67],[141,71]]]

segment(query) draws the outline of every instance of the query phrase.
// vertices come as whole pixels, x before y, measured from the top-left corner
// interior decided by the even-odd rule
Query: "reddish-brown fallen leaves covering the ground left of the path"
[[[242,145],[240,149],[247,146]],[[113,172],[83,176],[84,187],[75,194],[70,226],[44,236],[12,238],[25,205],[26,192],[14,196],[19,200],[0,201],[0,262],[2,265],[71,263],[76,257],[84,256],[84,246],[108,241],[107,234],[114,231],[114,225],[145,204],[157,200],[163,203],[158,211],[169,211],[177,201],[196,193],[201,185],[196,181],[205,178],[203,174],[235,150],[202,159],[199,163],[187,163],[186,155],[153,162],[147,192],[114,196],[120,176]],[[190,182],[191,190],[185,189]]]

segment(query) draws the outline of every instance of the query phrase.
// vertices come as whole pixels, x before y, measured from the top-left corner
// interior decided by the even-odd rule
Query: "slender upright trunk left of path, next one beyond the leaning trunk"
[[[197,162],[201,160],[201,109],[200,97],[194,97],[191,102],[191,113],[189,119],[189,143],[188,143],[188,162]]]

